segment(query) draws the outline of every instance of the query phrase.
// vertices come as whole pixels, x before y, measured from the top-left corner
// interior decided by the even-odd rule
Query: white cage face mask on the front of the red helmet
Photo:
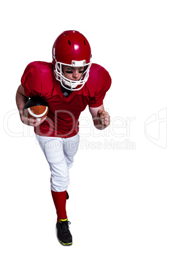
[[[56,80],[60,81],[62,87],[64,87],[67,90],[81,90],[84,84],[88,81],[89,69],[91,67],[91,64],[92,62],[89,62],[88,64],[86,64],[86,60],[82,60],[82,61],[72,60],[72,65],[56,62],[55,69],[54,69],[55,78]],[[80,80],[78,81],[70,80],[63,75],[62,65],[70,66],[70,67],[84,67],[85,71],[84,73],[82,73]],[[81,86],[79,87],[79,85]]]

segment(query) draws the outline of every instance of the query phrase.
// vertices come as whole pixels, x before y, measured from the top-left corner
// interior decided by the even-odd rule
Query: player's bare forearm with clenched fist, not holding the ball
[[[105,111],[103,104],[98,108],[89,107],[95,127],[99,130],[105,129],[110,124],[110,116]]]

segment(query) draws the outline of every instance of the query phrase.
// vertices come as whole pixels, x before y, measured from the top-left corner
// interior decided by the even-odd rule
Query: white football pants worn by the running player
[[[79,146],[79,134],[71,138],[46,137],[36,134],[51,170],[51,190],[62,192],[70,183],[69,169]]]

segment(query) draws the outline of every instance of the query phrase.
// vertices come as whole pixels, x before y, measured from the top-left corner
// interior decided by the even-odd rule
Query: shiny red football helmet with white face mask
[[[69,89],[65,87],[65,85],[69,85],[69,90],[80,90],[88,80],[91,66],[91,48],[88,40],[78,31],[64,31],[56,38],[52,54],[56,80],[60,81],[65,89]],[[62,65],[84,67],[81,79],[73,81],[65,78],[62,73]],[[78,85],[81,87],[76,88]]]

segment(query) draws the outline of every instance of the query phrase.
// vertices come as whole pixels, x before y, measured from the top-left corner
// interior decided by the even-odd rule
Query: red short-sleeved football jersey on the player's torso
[[[27,97],[39,96],[49,104],[48,117],[34,128],[36,134],[69,138],[79,131],[79,115],[86,106],[96,108],[103,104],[111,78],[106,69],[92,64],[82,89],[65,97],[60,82],[53,75],[53,63],[36,61],[27,66],[21,82]]]

